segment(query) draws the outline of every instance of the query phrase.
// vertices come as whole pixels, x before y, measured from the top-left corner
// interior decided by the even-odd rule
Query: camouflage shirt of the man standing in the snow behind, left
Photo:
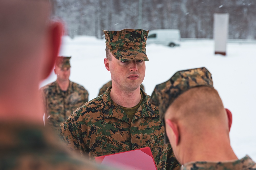
[[[45,108],[45,119],[56,134],[60,133],[60,124],[68,119],[70,114],[88,101],[88,91],[83,86],[70,82],[68,90],[63,92],[57,81],[41,89]]]

